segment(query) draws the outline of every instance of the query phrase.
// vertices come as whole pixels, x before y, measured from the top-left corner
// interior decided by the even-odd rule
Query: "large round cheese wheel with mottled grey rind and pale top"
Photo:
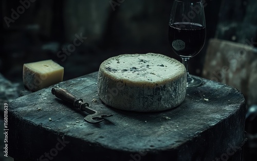
[[[107,59],[99,68],[99,97],[117,109],[172,109],[183,102],[186,89],[185,66],[161,54],[123,54]]]

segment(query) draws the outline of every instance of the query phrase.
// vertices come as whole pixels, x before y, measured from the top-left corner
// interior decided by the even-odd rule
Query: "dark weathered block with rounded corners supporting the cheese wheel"
[[[241,152],[246,111],[240,91],[204,79],[203,86],[187,90],[175,109],[127,112],[103,105],[97,95],[97,74],[58,85],[89,107],[114,116],[89,124],[83,120],[85,113],[70,109],[51,94],[51,87],[22,96],[9,105],[10,156],[36,160],[50,152],[53,160],[214,160]],[[56,154],[58,138],[69,143]]]

